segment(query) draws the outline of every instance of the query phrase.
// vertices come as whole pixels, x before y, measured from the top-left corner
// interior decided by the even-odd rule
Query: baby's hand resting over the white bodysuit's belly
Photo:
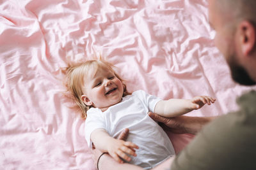
[[[123,141],[113,138],[113,140],[111,140],[111,143],[109,143],[108,145],[108,153],[117,162],[124,163],[124,161],[121,160],[120,157],[124,160],[127,160],[128,162],[131,160],[131,158],[128,157],[126,153],[134,157],[137,156],[134,148],[138,149],[139,147],[129,141]]]

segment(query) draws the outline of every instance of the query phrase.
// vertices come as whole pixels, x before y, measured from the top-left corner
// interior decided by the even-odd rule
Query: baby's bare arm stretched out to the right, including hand
[[[184,115],[192,110],[202,108],[204,104],[214,103],[216,99],[209,96],[196,96],[193,99],[169,99],[168,101],[159,101],[156,104],[154,113],[162,117],[177,117]]]

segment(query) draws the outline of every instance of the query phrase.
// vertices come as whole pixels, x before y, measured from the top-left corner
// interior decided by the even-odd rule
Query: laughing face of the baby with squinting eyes
[[[124,93],[122,81],[111,71],[98,69],[94,76],[87,76],[84,82],[84,95],[95,108],[105,111],[109,106],[122,100]]]

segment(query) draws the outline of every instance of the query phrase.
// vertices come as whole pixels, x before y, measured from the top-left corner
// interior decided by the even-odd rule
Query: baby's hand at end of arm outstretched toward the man
[[[192,103],[192,109],[193,110],[198,110],[200,108],[202,108],[202,106],[204,106],[204,104],[211,104],[214,103],[216,101],[216,99],[214,99],[213,97],[209,97],[209,96],[196,96],[193,97],[193,99],[190,100]]]

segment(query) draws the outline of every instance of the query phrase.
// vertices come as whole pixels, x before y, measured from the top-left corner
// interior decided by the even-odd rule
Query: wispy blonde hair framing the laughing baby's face
[[[122,82],[124,87],[123,97],[131,93],[127,91],[125,81],[114,71],[115,66],[113,64],[100,59],[87,60],[86,62],[80,62],[72,64],[65,68],[66,81],[65,85],[67,91],[71,93],[72,99],[76,101],[77,106],[81,110],[81,117],[86,118],[86,111],[88,111],[92,106],[87,106],[84,104],[82,95],[83,95],[83,85],[84,85],[84,76],[93,75],[96,73],[97,69],[107,69],[115,74],[115,76]]]

